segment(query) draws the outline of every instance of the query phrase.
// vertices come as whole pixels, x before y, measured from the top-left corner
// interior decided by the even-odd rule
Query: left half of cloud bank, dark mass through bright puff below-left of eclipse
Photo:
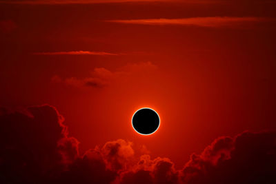
[[[110,183],[133,158],[119,139],[79,155],[55,107],[0,109],[0,183]]]

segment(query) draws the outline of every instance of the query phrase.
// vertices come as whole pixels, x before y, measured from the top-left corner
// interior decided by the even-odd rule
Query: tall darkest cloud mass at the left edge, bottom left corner
[[[57,142],[69,138],[63,116],[51,105],[0,113],[0,183],[38,183],[57,168],[63,155]],[[72,147],[72,146],[71,146]],[[72,152],[70,148],[66,150]]]

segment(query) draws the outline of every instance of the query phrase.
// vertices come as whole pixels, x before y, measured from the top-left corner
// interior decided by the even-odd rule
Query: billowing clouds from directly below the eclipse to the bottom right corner
[[[223,136],[201,154],[192,154],[182,170],[166,158],[140,161],[120,174],[117,183],[275,183],[276,132]]]

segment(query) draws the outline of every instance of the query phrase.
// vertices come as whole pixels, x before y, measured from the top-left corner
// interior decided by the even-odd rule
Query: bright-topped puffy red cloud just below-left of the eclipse
[[[132,143],[119,139],[103,147],[88,150],[61,172],[57,183],[112,183],[119,173],[128,170],[134,150]]]

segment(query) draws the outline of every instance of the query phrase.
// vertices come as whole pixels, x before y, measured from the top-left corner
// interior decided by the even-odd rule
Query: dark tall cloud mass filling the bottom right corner
[[[275,183],[276,132],[217,139],[182,170],[184,183]]]

